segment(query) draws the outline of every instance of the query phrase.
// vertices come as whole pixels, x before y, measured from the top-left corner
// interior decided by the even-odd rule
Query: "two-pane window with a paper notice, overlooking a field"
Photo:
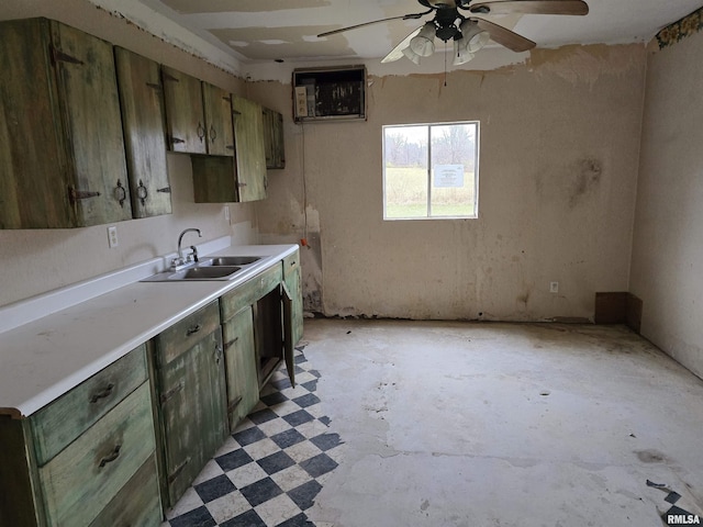
[[[383,126],[383,220],[478,216],[479,123]]]

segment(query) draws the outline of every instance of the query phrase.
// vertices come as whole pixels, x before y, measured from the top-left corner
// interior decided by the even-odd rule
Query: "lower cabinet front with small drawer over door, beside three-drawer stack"
[[[163,498],[174,506],[227,435],[219,302],[154,339]]]

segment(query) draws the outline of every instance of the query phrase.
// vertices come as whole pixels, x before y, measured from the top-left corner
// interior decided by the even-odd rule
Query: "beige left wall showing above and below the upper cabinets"
[[[241,93],[244,82],[83,0],[1,2],[0,19],[47,16],[101,36],[159,63]],[[200,227],[203,240],[232,234],[256,243],[255,205],[193,203],[190,158],[169,154],[174,213],[118,223],[120,245],[108,248],[107,226],[0,231],[0,305],[147,260],[176,249],[178,234]],[[232,225],[230,224],[232,223]]]

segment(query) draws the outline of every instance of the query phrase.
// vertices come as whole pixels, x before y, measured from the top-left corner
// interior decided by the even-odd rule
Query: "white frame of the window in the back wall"
[[[473,125],[475,126],[475,145],[473,145],[473,214],[467,215],[432,215],[432,188],[433,188],[433,164],[432,164],[432,128],[433,126],[451,126],[451,125]],[[389,217],[387,213],[387,144],[386,133],[388,128],[409,128],[409,127],[426,127],[427,128],[427,215],[426,216],[403,216],[403,217]],[[480,131],[481,122],[479,120],[470,121],[449,121],[449,122],[432,122],[432,123],[406,123],[406,124],[384,124],[381,126],[381,141],[382,141],[382,208],[383,208],[383,221],[422,221],[422,220],[478,220],[479,217],[479,153],[480,153]]]

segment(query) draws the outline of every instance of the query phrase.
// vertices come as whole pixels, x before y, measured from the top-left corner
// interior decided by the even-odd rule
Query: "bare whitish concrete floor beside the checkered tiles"
[[[317,527],[660,527],[669,490],[703,515],[703,381],[627,328],[308,319],[304,341],[345,441]]]

